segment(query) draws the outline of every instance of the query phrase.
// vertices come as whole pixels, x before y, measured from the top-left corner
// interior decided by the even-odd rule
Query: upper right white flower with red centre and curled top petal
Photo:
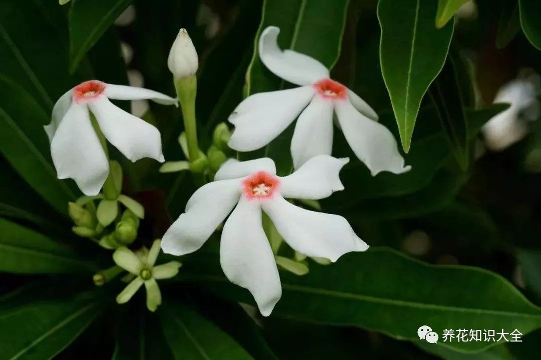
[[[252,151],[265,146],[300,114],[291,142],[293,165],[299,168],[315,155],[331,154],[336,112],[349,146],[372,175],[410,170],[410,166],[404,166],[391,132],[374,121],[378,119],[374,110],[347,87],[331,80],[329,70],[318,60],[280,50],[276,42],[279,31],[269,26],[262,32],[259,56],[277,76],[301,87],[258,93],[242,101],[229,117],[235,125],[229,147]]]

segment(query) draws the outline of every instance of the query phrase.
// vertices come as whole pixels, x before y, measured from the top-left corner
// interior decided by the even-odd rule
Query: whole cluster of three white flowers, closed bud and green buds
[[[339,172],[349,159],[331,156],[333,114],[353,153],[372,175],[382,171],[400,174],[410,166],[404,165],[393,135],[377,122],[377,113],[364,100],[332,80],[329,70],[318,60],[281,50],[278,35],[279,29],[274,26],[261,33],[261,61],[274,74],[300,87],[247,97],[228,119],[234,125],[233,133],[220,124],[207,155],[197,145],[197,53],[184,29],[175,39],[167,60],[177,99],[147,89],[90,80],[57,101],[45,131],[58,178],[74,179],[87,195],[70,203],[74,232],[91,239],[104,233],[96,242],[115,250],[113,258],[117,264],[107,274],[116,275],[121,269],[131,274],[131,282],[118,295],[118,303],[129,301],[144,284],[147,306],[154,311],[161,303],[156,280],[175,276],[180,267],[176,261],[154,266],[160,247],[173,255],[195,252],[224,221],[220,243],[222,269],[231,282],[252,293],[265,316],[271,314],[281,297],[278,267],[287,269],[290,265],[289,259],[276,255],[263,227],[266,219],[280,239],[295,251],[299,262],[307,256],[319,263],[334,262],[346,253],[368,249],[342,216],[295,205],[324,199],[344,189]],[[119,173],[117,162],[108,159],[105,140],[131,161],[148,157],[163,162],[160,132],[109,99],[151,99],[166,105],[178,105],[180,100],[185,127],[180,144],[188,161],[168,162],[161,172],[189,170],[214,178],[197,189],[185,212],[161,242],[154,241],[150,250],[141,247],[134,253],[126,247],[137,238],[144,209],[121,194],[122,171]],[[295,119],[291,141],[295,171],[291,174],[276,175],[274,161],[269,158],[227,160],[229,148],[246,152],[266,146]],[[93,200],[100,200],[97,209]],[[122,215],[118,213],[118,203],[126,207]],[[268,218],[263,218],[263,213]],[[104,229],[115,220],[115,230],[107,233]],[[294,266],[289,269],[296,274],[307,272]],[[96,276],[96,284],[104,282],[103,274]]]

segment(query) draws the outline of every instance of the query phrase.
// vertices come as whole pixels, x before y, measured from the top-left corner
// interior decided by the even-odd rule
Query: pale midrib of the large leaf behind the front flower
[[[225,278],[222,278],[220,276],[215,276],[215,275],[196,275],[196,276],[191,276],[189,279],[207,280],[207,281],[214,281],[214,282],[227,282]],[[354,294],[354,293],[348,293],[346,291],[339,291],[339,290],[326,290],[326,289],[320,289],[320,288],[312,288],[308,286],[287,284],[283,282],[282,282],[282,288],[291,290],[291,291],[297,291],[300,293],[306,293],[306,294],[325,295],[325,296],[337,297],[337,298],[348,298],[348,299],[360,300],[360,301],[378,303],[378,304],[380,303],[393,304],[393,305],[398,305],[400,307],[408,307],[408,308],[432,309],[432,310],[438,310],[438,311],[457,311],[461,313],[485,313],[485,314],[502,315],[502,316],[535,317],[541,320],[541,313],[539,315],[535,315],[535,314],[515,313],[513,311],[463,308],[463,307],[454,307],[451,305],[426,304],[426,303],[419,303],[419,302],[414,302],[414,301],[396,300],[396,299],[391,299],[391,298]]]

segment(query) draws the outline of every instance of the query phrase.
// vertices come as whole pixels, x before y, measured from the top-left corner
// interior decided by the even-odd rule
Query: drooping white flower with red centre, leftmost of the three
[[[160,104],[177,104],[162,93],[90,80],[65,93],[52,109],[52,121],[45,126],[58,179],[74,179],[85,195],[97,195],[107,175],[109,162],[90,120],[94,114],[103,135],[131,161],[149,157],[163,162],[160,132],[109,99],[151,99]]]

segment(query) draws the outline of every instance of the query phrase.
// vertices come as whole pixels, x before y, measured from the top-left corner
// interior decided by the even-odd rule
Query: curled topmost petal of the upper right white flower
[[[259,38],[259,57],[273,73],[297,85],[313,84],[328,78],[327,67],[313,57],[292,50],[282,51],[278,47],[280,29],[269,26]]]

